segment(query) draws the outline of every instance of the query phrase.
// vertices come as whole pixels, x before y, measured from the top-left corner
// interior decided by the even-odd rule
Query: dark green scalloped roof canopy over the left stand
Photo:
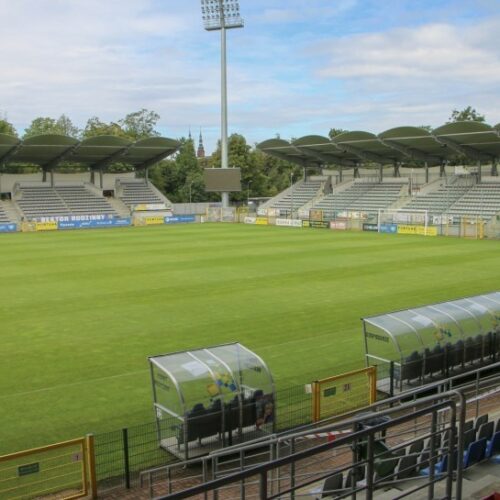
[[[0,165],[37,165],[53,170],[59,165],[82,165],[104,170],[114,163],[143,169],[163,160],[180,143],[165,137],[130,142],[122,137],[97,136],[78,141],[64,135],[37,135],[25,140],[0,134]]]

